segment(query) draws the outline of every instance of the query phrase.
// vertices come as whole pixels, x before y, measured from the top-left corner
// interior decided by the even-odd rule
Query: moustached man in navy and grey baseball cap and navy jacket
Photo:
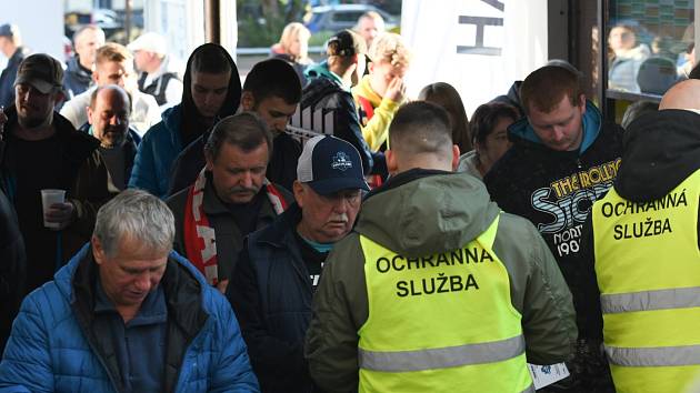
[[[297,203],[248,236],[228,293],[261,389],[270,393],[316,391],[303,360],[311,299],[328,253],[352,229],[369,189],[357,149],[334,137],[307,141],[297,172]]]

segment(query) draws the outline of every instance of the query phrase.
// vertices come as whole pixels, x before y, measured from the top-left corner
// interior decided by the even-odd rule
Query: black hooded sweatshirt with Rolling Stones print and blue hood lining
[[[622,129],[603,123],[587,102],[578,151],[554,151],[542,143],[528,118],[508,129],[513,147],[483,181],[504,211],[530,220],[544,238],[573,299],[578,293],[576,259],[581,229],[593,202],[612,185],[620,164]]]

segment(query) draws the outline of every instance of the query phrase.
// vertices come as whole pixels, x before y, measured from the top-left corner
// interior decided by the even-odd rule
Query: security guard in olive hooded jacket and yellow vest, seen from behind
[[[444,109],[403,105],[389,139],[391,177],[366,196],[313,300],[313,381],[329,392],[533,392],[526,355],[561,362],[576,343],[554,259],[531,223],[453,173]]]

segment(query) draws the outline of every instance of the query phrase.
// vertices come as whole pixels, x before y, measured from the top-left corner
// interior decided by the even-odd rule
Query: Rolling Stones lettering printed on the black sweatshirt
[[[618,174],[620,159],[558,179],[532,193],[532,208],[551,215],[538,224],[544,239],[554,245],[554,256],[578,253],[581,226],[593,202],[606,194]]]

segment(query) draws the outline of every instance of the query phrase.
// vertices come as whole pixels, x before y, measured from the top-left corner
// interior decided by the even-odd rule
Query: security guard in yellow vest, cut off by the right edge
[[[700,374],[699,97],[680,82],[629,125],[584,229],[579,318],[597,321],[619,392],[686,392]]]

